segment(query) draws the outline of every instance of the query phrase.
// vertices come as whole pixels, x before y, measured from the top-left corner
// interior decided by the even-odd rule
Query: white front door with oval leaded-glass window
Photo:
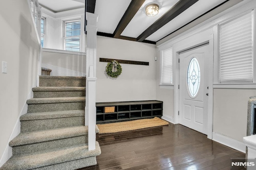
[[[207,134],[209,44],[180,53],[179,123]]]

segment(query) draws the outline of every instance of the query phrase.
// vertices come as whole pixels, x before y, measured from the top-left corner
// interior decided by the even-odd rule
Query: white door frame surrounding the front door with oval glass
[[[214,34],[213,29],[208,29],[201,33],[192,35],[182,41],[175,43],[172,46],[172,55],[173,57],[173,70],[175,70],[174,77],[174,123],[179,123],[179,89],[178,85],[180,84],[180,68],[178,59],[180,58],[179,53],[181,51],[191,49],[209,42],[209,47],[211,49],[211,57],[209,57],[209,72],[208,72],[208,84],[209,84],[209,96],[208,96],[208,130],[207,137],[212,139],[212,126],[213,126],[213,57],[214,57]]]

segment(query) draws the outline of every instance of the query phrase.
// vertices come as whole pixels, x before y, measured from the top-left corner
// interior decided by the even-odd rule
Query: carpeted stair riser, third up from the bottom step
[[[40,131],[46,129],[54,129],[61,127],[83,126],[84,116],[78,117],[62,117],[55,119],[38,119],[20,121],[20,131],[22,133],[29,131]]]

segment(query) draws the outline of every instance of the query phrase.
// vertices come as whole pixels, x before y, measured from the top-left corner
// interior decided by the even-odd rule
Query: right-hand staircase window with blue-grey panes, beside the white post
[[[64,22],[64,48],[69,51],[80,51],[81,21]]]

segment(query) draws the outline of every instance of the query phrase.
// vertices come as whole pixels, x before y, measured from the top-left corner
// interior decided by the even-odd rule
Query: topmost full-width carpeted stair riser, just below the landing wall
[[[85,87],[86,80],[83,79],[56,79],[40,78],[39,86],[42,87]]]

